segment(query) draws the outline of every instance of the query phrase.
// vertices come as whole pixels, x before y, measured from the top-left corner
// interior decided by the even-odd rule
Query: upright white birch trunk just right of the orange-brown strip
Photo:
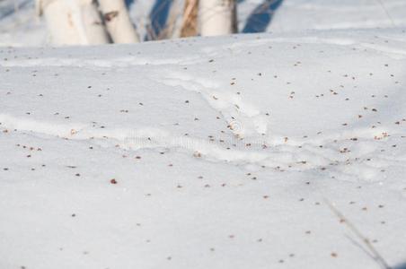
[[[202,36],[227,35],[237,32],[235,0],[200,0],[199,22]]]

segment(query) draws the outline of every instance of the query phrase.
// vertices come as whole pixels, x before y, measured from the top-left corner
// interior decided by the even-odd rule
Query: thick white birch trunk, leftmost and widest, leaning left
[[[36,0],[37,12],[46,18],[55,45],[110,43],[93,0]]]

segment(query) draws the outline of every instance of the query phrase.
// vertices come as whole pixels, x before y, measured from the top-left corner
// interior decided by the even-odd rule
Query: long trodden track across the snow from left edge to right
[[[140,149],[167,148],[189,152],[207,161],[227,161],[235,165],[258,165],[284,170],[319,170],[345,178],[375,180],[380,172],[391,165],[391,158],[377,151],[372,133],[359,130],[359,139],[349,148],[347,134],[326,135],[313,139],[290,140],[285,143],[271,137],[263,140],[233,139],[222,143],[195,137],[175,136],[157,128],[94,129],[84,124],[55,125],[31,119],[0,115],[3,130],[32,132],[58,136],[70,140],[83,140],[102,147],[116,147],[137,151]],[[333,138],[333,140],[331,140]],[[270,143],[269,143],[270,142]],[[355,153],[352,153],[354,151]],[[374,160],[369,160],[374,156]],[[396,158],[405,162],[406,156]]]

